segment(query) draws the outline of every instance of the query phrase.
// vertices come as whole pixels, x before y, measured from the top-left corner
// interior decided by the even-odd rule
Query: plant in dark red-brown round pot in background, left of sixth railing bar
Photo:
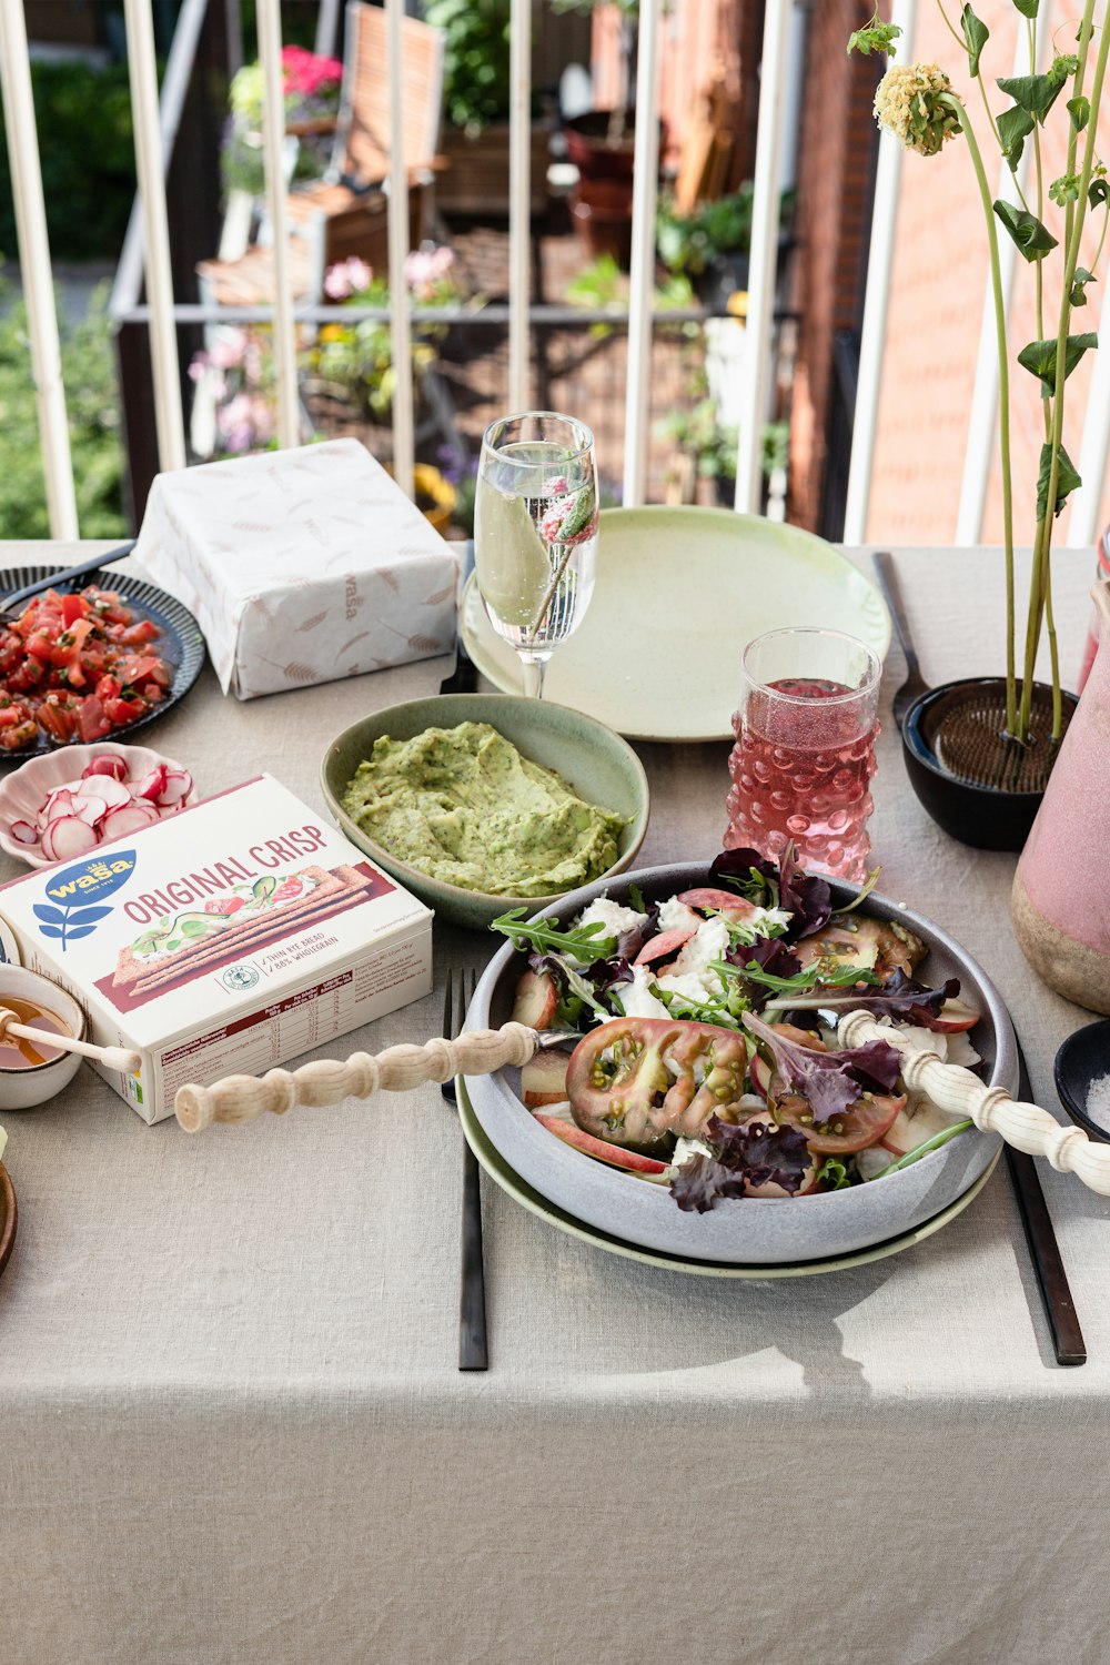
[[[556,12],[592,12],[597,0],[554,0]],[[627,268],[632,255],[632,165],[636,157],[636,48],[639,0],[604,0],[621,13],[622,97],[562,123],[567,158],[577,168],[571,193],[574,228],[592,255]]]

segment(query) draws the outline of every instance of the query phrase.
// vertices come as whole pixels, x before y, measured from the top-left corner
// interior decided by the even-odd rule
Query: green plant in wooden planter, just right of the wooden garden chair
[[[509,211],[509,0],[428,0],[424,22],[446,35],[436,176],[444,213]],[[548,205],[551,120],[533,122],[531,211]]]

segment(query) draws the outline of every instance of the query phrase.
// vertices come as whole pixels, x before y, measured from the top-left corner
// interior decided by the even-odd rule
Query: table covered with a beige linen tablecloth
[[[999,551],[897,559],[925,674],[1000,666]],[[1058,558],[1068,681],[1090,568]],[[205,671],[153,738],[201,791],[266,766],[320,808],[326,741],[446,669],[248,704]],[[1013,857],[954,844],[912,798],[889,718],[902,674],[895,646],[882,889],[992,972],[1053,1107],[1055,1047],[1087,1014],[1012,939]],[[726,704],[732,683],[722,668]],[[641,756],[642,862],[709,857],[727,748]],[[438,979],[486,949],[438,927]],[[439,1009],[409,1006],[349,1049],[423,1041]],[[491,1369],[459,1375],[459,1129],[438,1089],[188,1137],[83,1071],[5,1126],[20,1197],[0,1279],[5,1665],[1105,1653],[1110,1202],[1073,1179],[1043,1172],[1080,1370],[1052,1359],[1000,1166],[907,1254],[742,1285],[599,1254],[484,1180]]]

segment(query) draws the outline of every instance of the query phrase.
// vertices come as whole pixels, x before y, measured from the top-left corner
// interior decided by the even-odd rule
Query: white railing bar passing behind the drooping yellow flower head
[[[899,63],[914,60],[914,23],[917,0],[895,0],[892,22],[902,30]],[[879,143],[875,170],[875,198],[870,218],[870,246],[867,253],[867,288],[864,293],[864,325],[860,330],[859,381],[855,393],[855,420],[852,423],[852,458],[849,461],[849,486],[844,508],[844,543],[862,543],[867,534],[870,506],[870,476],[875,461],[875,425],[879,420],[879,390],[882,383],[882,353],[887,336],[887,306],[890,303],[890,271],[894,266],[894,233],[899,216],[899,181],[902,178],[902,145],[890,138]]]

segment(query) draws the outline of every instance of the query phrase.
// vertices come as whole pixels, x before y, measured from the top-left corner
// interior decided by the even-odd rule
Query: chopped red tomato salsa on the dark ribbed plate
[[[0,751],[105,739],[146,716],[173,683],[158,636],[111,589],[33,596],[0,631]]]

